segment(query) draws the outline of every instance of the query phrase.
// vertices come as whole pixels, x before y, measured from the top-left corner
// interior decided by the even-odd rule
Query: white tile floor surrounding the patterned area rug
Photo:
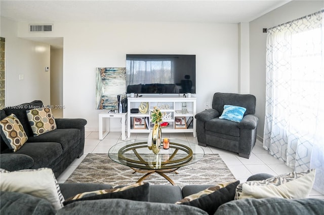
[[[127,140],[139,138],[147,138],[147,134],[132,134]],[[163,138],[174,138],[196,144],[198,143],[197,139],[189,133],[163,134]],[[88,153],[108,153],[110,147],[119,142],[122,142],[120,132],[110,132],[101,141],[99,140],[98,132],[86,132],[84,155],[71,163],[71,165],[58,177],[58,182],[64,183]],[[262,143],[260,141],[257,141],[253,148],[250,159],[239,157],[236,153],[215,147],[207,146],[203,148],[205,154],[219,154],[232,171],[235,178],[241,182],[245,182],[251,175],[257,173],[279,175],[293,171],[293,169],[289,168],[284,162],[269,155],[268,152],[262,148]],[[311,192],[310,197],[324,199],[324,195],[321,195],[315,190]]]

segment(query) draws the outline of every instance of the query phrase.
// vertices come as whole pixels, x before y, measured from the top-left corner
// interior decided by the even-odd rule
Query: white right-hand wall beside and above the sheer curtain
[[[256,115],[259,117],[257,135],[263,139],[265,117],[265,54],[266,33],[270,28],[309,15],[324,8],[324,1],[292,1],[250,22],[250,93],[257,98]]]

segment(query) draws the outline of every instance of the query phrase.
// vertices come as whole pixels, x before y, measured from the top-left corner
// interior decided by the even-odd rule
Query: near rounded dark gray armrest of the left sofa
[[[7,171],[29,169],[34,165],[34,160],[25,154],[4,153],[0,155],[0,167]]]

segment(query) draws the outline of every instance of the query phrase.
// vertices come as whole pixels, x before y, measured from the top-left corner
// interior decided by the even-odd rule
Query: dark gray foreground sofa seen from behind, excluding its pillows
[[[208,214],[206,211],[189,205],[174,204],[185,196],[204,190],[212,185],[188,185],[184,188],[172,185],[150,185],[149,201],[134,201],[128,199],[100,199],[83,200],[67,204],[62,209],[55,211],[45,199],[36,198],[28,194],[15,192],[0,192],[1,214]],[[60,184],[61,192],[65,199],[75,194],[111,189],[104,184]],[[267,215],[267,214],[294,214],[294,215],[319,215],[324,211],[324,199],[242,199],[232,200],[222,204],[215,215]]]

